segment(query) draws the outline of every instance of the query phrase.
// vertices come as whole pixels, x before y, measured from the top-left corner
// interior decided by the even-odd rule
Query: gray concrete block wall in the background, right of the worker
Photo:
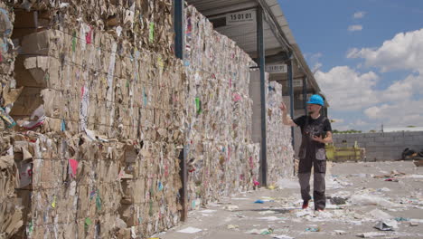
[[[401,158],[404,148],[423,149],[423,131],[334,134],[336,147],[353,147],[355,141],[366,149],[368,161],[395,160]]]

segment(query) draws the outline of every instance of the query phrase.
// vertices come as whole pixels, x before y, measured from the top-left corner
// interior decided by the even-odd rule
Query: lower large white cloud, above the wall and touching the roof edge
[[[423,122],[423,114],[418,117],[415,113],[423,105],[423,99],[412,100],[413,97],[421,97],[421,74],[410,74],[404,80],[394,81],[384,90],[375,89],[377,83],[382,81],[378,74],[356,72],[348,66],[337,66],[329,72],[316,72],[315,79],[327,96],[331,110],[364,110],[369,119],[386,119],[392,126],[403,126],[401,122],[404,117],[411,115],[407,124],[421,125]],[[353,126],[367,125],[369,121],[365,119],[353,122]]]

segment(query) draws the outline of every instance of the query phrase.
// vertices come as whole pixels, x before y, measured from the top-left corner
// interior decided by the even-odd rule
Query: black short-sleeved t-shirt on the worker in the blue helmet
[[[329,119],[321,115],[317,119],[311,118],[311,116],[301,116],[294,119],[294,122],[297,126],[301,128],[301,134],[308,139],[312,139],[313,136],[322,136],[326,137],[326,132],[332,131],[331,122]],[[314,141],[314,140],[311,140]],[[319,146],[324,146],[324,144],[316,142]]]

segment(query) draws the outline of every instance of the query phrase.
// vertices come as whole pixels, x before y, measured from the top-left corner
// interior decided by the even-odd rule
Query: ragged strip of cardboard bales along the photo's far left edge
[[[22,90],[16,88],[14,81],[15,53],[11,38],[13,24],[13,8],[0,2],[0,238],[13,236],[24,224],[22,208],[17,206],[17,196],[14,192],[18,178],[13,147],[10,137],[3,136],[14,128],[15,121],[10,118],[9,112]]]

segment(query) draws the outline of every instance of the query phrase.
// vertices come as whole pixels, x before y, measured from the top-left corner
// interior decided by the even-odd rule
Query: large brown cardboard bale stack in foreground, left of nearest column
[[[175,225],[185,97],[172,2],[31,3],[10,1],[24,89],[10,115],[30,130],[9,135],[24,210],[15,236],[146,237]]]

